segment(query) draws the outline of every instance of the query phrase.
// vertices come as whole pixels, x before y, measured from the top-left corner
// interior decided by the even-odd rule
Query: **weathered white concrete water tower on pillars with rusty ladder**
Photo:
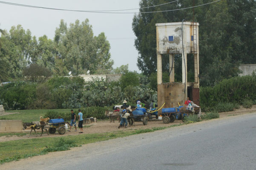
[[[199,47],[198,26],[199,23],[157,23],[157,90],[158,107],[166,103],[163,108],[178,107],[184,105],[187,97],[199,105]],[[169,54],[170,82],[162,82],[162,54]],[[182,57],[182,82],[175,82],[174,54]],[[187,82],[187,54],[193,54],[195,79]]]

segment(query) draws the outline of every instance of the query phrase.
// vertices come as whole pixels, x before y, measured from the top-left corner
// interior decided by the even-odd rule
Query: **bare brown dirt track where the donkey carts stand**
[[[220,118],[227,117],[227,116],[234,116],[234,115],[242,115],[245,113],[253,113],[256,112],[256,105],[253,105],[252,108],[239,108],[236,109],[235,111],[231,112],[221,112],[219,113]],[[147,128],[152,128],[152,127],[167,127],[171,125],[178,125],[180,123],[183,123],[181,120],[175,120],[173,123],[169,124],[164,124],[163,121],[149,121],[146,126],[142,124],[142,122],[135,122],[135,126],[127,127],[125,130],[135,130],[135,129],[147,129]],[[115,132],[120,129],[118,129],[118,121],[115,121],[115,123],[109,123],[108,120],[103,120],[103,121],[98,121],[97,123],[92,123],[90,125],[86,125],[83,128],[84,133],[106,133],[106,132]],[[26,136],[1,136],[0,137],[0,142],[5,142],[5,141],[11,141],[11,140],[18,140],[18,139],[33,139],[33,138],[42,138],[42,137],[61,137],[61,136],[70,136],[70,135],[78,135],[80,130],[75,132],[75,128],[72,128],[71,132],[66,131],[65,134],[60,135],[58,132],[55,134],[50,134],[49,136],[46,133],[43,133],[42,136],[38,135],[36,137],[35,135],[31,135],[28,138],[28,135]],[[20,131],[20,132],[24,132]],[[30,130],[26,130],[26,132],[30,132]],[[37,131],[39,134],[41,134],[41,130]]]

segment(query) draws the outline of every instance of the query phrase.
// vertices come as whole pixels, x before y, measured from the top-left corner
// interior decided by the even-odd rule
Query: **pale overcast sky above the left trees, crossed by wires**
[[[118,10],[139,8],[140,0],[3,0],[48,8],[63,8],[72,10]],[[131,12],[131,11],[127,11]],[[133,10],[132,12],[138,12]],[[111,58],[114,68],[129,64],[129,70],[138,71],[138,51],[134,47],[135,35],[132,31],[134,14],[96,14],[72,11],[55,11],[41,8],[28,8],[0,3],[0,28],[10,30],[12,26],[22,25],[29,29],[32,36],[41,37],[44,34],[53,39],[55,29],[63,19],[68,25],[75,20],[89,19],[94,35],[104,32],[110,42]]]

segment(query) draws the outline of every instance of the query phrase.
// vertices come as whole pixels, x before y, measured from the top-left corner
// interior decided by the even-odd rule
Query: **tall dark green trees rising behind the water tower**
[[[141,0],[140,11],[164,11],[197,6],[214,0],[178,0],[164,6],[142,8],[170,2]],[[134,16],[132,29],[137,37],[138,68],[147,76],[156,71],[155,23],[193,21],[193,8],[161,13],[140,13]],[[256,1],[221,0],[194,8],[194,21],[199,26],[200,83],[214,85],[223,78],[239,74],[241,63],[256,63]],[[178,58],[178,57],[176,57]],[[176,59],[175,58],[175,59]],[[168,57],[164,59],[168,60]],[[176,59],[178,61],[178,59]],[[168,71],[168,61],[163,70]],[[176,64],[176,63],[175,63]],[[175,65],[175,71],[181,70]]]

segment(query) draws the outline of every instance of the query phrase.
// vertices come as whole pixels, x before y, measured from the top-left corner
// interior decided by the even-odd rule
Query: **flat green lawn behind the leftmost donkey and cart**
[[[15,110],[15,111],[6,111],[6,112],[9,112],[9,113],[19,112],[19,113],[0,116],[0,119],[22,120],[23,122],[39,121],[40,116],[44,116],[49,110],[58,111],[58,112],[70,112],[70,109]]]

